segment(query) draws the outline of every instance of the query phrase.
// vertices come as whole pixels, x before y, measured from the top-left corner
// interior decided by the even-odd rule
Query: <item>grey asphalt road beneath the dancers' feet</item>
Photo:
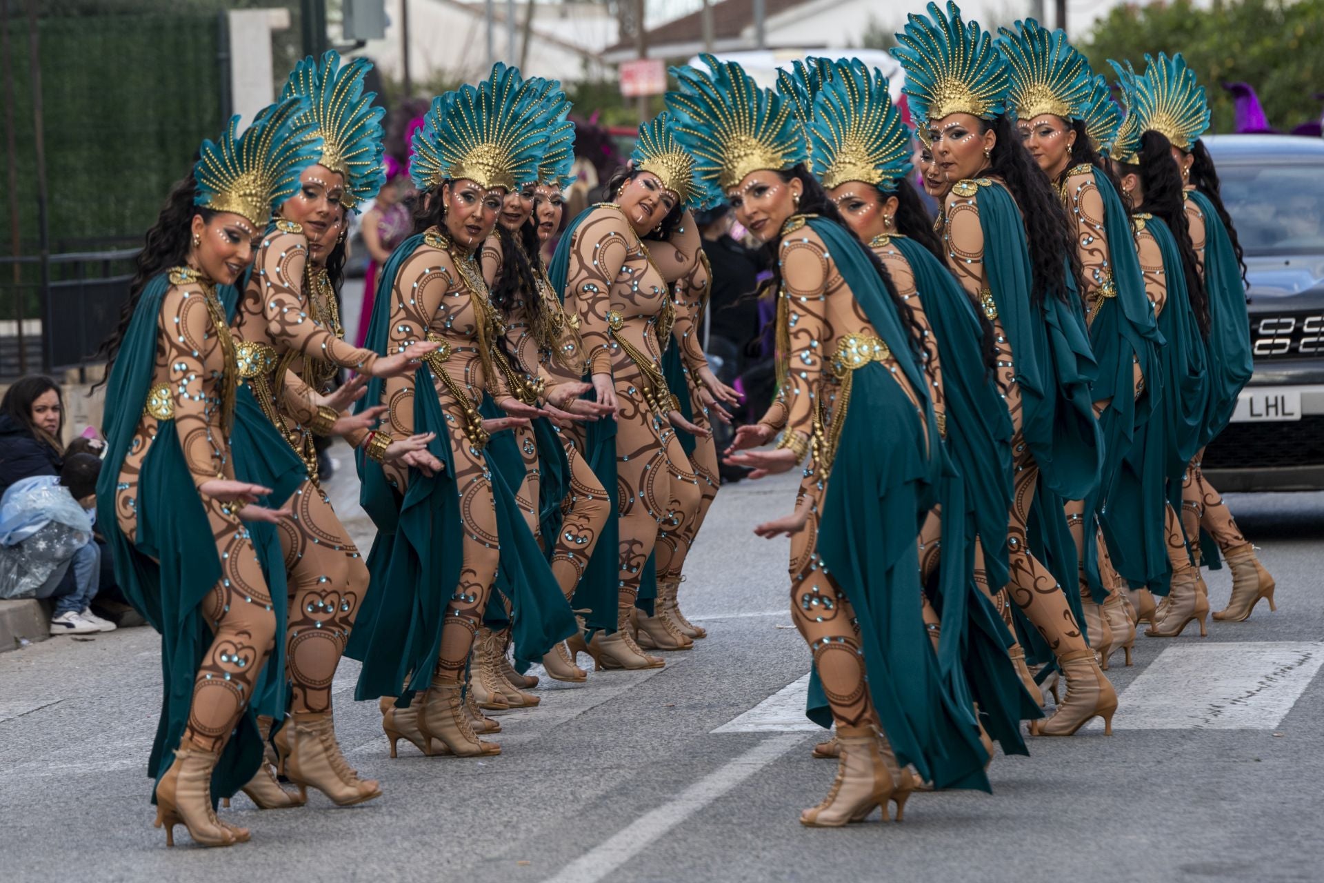
[[[342,465],[351,469],[347,458]],[[363,539],[355,488],[334,482]],[[160,691],[156,635],[128,629],[0,655],[0,867],[19,880],[1319,880],[1324,845],[1324,494],[1231,496],[1278,579],[1276,613],[1205,639],[1140,638],[1115,657],[1115,735],[1035,740],[998,757],[994,793],[918,794],[902,823],[797,822],[831,781],[792,692],[808,650],[786,613],[785,541],[751,527],[789,511],[793,479],[723,488],[682,605],[710,638],[663,670],[545,682],[502,715],[502,756],[387,756],[376,703],[336,728],[385,794],[338,809],[228,818],[253,842],[166,849],[144,778]],[[1225,572],[1209,577],[1215,609]],[[588,658],[581,658],[588,662]],[[761,704],[764,703],[764,704]],[[714,732],[745,712],[757,732]],[[789,711],[788,711],[789,710]],[[748,720],[744,718],[743,720]],[[1129,723],[1128,723],[1129,720]],[[740,728],[740,724],[735,724]],[[224,810],[222,810],[224,812]]]

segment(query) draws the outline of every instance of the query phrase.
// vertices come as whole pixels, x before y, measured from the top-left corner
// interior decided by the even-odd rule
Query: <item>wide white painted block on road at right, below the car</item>
[[[1117,729],[1275,729],[1324,665],[1324,643],[1168,647],[1117,698]],[[1100,727],[1099,721],[1091,727]]]

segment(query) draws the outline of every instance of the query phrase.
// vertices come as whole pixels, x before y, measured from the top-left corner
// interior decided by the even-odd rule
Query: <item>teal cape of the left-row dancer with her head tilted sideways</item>
[[[594,208],[593,205],[588,207],[567,225],[565,232],[561,233],[561,238],[556,244],[556,253],[552,256],[552,262],[547,267],[547,278],[551,281],[556,297],[563,303],[565,302],[565,286],[569,282],[571,242],[575,238],[575,230]],[[591,377],[585,376],[585,380],[591,380]],[[584,397],[596,401],[597,393],[589,389],[584,393]],[[581,451],[584,461],[606,490],[608,498],[614,500],[617,488],[616,421],[598,420],[591,422],[584,428],[584,450]],[[609,518],[606,519],[606,524],[602,526],[602,532],[597,537],[597,545],[593,547],[593,555],[584,568],[584,576],[580,579],[580,584],[575,589],[575,597],[572,598],[576,610],[588,612],[584,614],[584,624],[589,633],[598,630],[606,633],[616,631],[616,604],[621,585],[620,555],[620,520]],[[654,579],[655,582],[657,580]]]

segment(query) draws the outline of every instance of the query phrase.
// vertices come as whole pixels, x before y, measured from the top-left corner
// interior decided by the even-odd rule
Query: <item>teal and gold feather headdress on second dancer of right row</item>
[[[833,68],[814,98],[809,123],[814,175],[829,191],[846,181],[895,191],[911,171],[911,142],[887,78],[859,60]]]

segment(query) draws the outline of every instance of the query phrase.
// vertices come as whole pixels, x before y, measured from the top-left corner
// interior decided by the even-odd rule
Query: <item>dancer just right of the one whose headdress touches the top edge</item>
[[[1124,647],[1129,661],[1136,639],[1123,600],[1127,584],[1117,573],[1144,584],[1165,564],[1161,535],[1145,535],[1139,522],[1111,519],[1108,545],[1100,528],[1117,494],[1123,462],[1162,395],[1156,371],[1161,338],[1145,298],[1129,216],[1100,158],[1120,122],[1107,85],[1091,77],[1084,56],[1061,29],[1049,30],[1029,19],[1001,33],[997,45],[1012,77],[1008,110],[1067,208],[1090,344],[1099,365],[1091,393],[1103,434],[1103,473],[1090,498],[1067,503],[1067,520],[1079,561],[1086,630],[1107,670],[1117,649]],[[1151,455],[1162,454],[1153,449]],[[1143,491],[1135,483],[1123,490]]]

